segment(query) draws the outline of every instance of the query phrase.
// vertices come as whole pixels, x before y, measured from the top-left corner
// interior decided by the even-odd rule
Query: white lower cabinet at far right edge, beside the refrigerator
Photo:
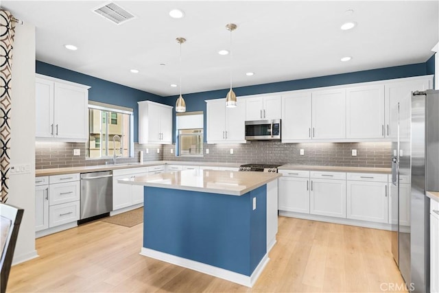
[[[439,292],[439,202],[430,200],[430,292]]]

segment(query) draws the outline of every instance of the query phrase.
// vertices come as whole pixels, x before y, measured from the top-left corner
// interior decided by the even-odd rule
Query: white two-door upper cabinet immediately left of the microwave
[[[235,108],[226,108],[225,99],[206,101],[207,143],[246,143],[246,99]]]

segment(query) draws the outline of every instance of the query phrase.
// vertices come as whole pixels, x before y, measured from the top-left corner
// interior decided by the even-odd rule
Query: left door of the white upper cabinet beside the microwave
[[[217,99],[206,104],[207,143],[219,143],[226,139],[225,103],[224,99]]]

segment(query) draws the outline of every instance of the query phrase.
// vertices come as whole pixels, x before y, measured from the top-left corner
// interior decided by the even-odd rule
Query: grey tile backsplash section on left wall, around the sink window
[[[146,154],[146,148],[150,150],[149,154]],[[74,149],[80,149],[80,156],[73,156]],[[112,159],[86,159],[85,149],[85,143],[36,141],[35,169],[93,166],[112,162]],[[157,149],[159,153],[157,153]],[[139,162],[140,150],[143,150],[143,161],[163,160],[162,145],[139,145],[139,143],[134,143],[134,157],[117,158],[117,163]]]

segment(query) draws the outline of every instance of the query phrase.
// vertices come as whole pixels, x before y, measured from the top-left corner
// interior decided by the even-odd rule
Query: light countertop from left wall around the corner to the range
[[[65,168],[51,168],[51,169],[36,169],[35,176],[50,176],[50,175],[62,175],[71,173],[89,173],[108,171],[115,169],[128,169],[138,167],[151,167],[158,165],[200,165],[211,167],[239,167],[241,163],[215,163],[215,162],[193,162],[193,161],[149,161],[143,163],[120,163],[116,165],[95,165],[95,166],[80,166],[80,167],[65,167]]]

